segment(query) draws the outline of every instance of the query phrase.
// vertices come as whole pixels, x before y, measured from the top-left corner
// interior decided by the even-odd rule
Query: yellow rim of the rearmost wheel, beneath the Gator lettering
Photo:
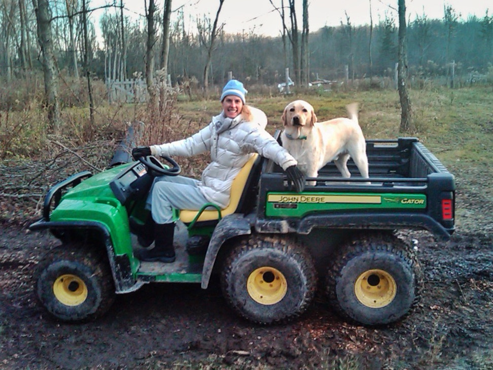
[[[383,270],[365,271],[355,283],[356,298],[366,307],[385,307],[394,300],[396,293],[396,281]]]

